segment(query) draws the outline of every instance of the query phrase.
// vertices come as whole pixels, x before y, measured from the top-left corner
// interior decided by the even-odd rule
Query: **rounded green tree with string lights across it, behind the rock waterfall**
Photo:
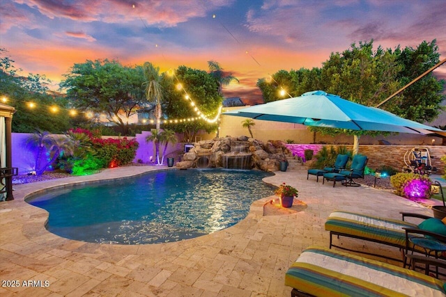
[[[217,93],[217,81],[203,70],[195,70],[190,67],[180,66],[176,70],[176,78],[183,88],[187,90],[192,102],[185,99],[184,91],[178,90],[172,81],[164,83],[164,90],[167,94],[165,99],[166,114],[169,118],[186,119],[175,124],[166,124],[165,127],[184,135],[187,142],[194,141],[199,130],[208,133],[217,129],[216,122],[206,122],[199,118],[197,114],[201,111],[208,118],[217,116],[217,112],[222,105],[223,98]],[[197,108],[197,111],[195,109]]]

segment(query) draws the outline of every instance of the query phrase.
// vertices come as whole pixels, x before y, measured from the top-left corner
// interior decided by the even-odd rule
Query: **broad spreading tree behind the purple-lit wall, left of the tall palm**
[[[129,134],[128,118],[144,104],[141,67],[125,67],[118,61],[96,60],[76,63],[60,83],[68,98],[82,111],[105,114]]]

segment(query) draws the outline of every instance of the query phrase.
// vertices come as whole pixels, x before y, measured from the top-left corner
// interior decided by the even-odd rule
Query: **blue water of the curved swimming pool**
[[[49,191],[27,200],[49,212],[47,230],[96,243],[164,243],[230,227],[274,189],[257,170],[162,170]]]

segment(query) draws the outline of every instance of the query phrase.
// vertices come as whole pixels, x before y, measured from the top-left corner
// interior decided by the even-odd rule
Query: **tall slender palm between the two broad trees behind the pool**
[[[163,90],[161,86],[162,75],[160,67],[153,66],[152,63],[144,63],[144,76],[146,77],[146,99],[155,103],[156,129],[160,131],[160,119],[162,115],[161,102],[163,99]]]

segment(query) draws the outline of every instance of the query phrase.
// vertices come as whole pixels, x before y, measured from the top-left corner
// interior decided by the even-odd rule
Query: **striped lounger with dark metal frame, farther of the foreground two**
[[[337,246],[333,243],[333,236],[346,236],[355,239],[363,239],[367,241],[373,241],[376,243],[382,243],[387,246],[394,246],[399,248],[406,255],[408,250],[415,250],[416,252],[422,252],[426,250],[420,246],[414,246],[408,242],[410,236],[433,236],[438,241],[446,242],[446,230],[433,229],[426,224],[417,225],[415,223],[409,223],[404,219],[406,217],[419,218],[424,220],[439,220],[425,216],[423,214],[412,214],[401,212],[402,220],[394,220],[390,218],[380,218],[378,216],[368,216],[366,214],[357,214],[350,211],[333,211],[325,221],[325,230],[330,231],[330,248],[341,248],[344,250],[350,250],[355,252],[362,252],[358,250],[352,250],[345,248],[344,246]],[[444,225],[444,224],[443,224]],[[422,228],[422,229],[421,229]],[[445,226],[446,229],[446,226]],[[388,257],[387,255],[378,255],[371,252],[362,252],[367,255],[375,255],[386,259],[392,259],[399,262],[406,262],[405,257],[396,259]]]

